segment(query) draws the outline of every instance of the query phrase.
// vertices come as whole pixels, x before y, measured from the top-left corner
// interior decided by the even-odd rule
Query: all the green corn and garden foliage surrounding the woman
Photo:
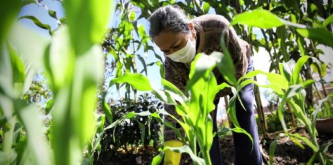
[[[322,106],[331,110],[328,99],[331,94],[325,92],[327,82],[322,78],[328,66],[320,60],[322,50],[317,47],[319,44],[333,47],[331,0],[325,3],[321,0],[119,0],[113,8],[111,0],[59,0],[65,13],[63,18],[58,18],[55,11],[41,3],[42,0],[0,2],[0,164],[91,164],[94,152],[100,153],[105,147],[101,144],[108,145],[108,140],[114,142],[121,138],[118,133],[128,131],[124,126],[127,121],[137,123],[135,136],[139,138],[116,143],[116,147],[147,144],[150,139],[158,143],[159,125],[152,126],[152,123],[162,122],[176,131],[184,145],[161,146],[152,164],[161,161],[166,149],[187,152],[195,164],[210,164],[208,151],[212,137],[220,133],[212,132],[213,121],[209,115],[214,109],[214,95],[219,89],[231,87],[233,97],[227,111],[235,125],[232,130],[247,134],[237,122],[234,102],[238,99],[237,92],[248,83],[270,88],[279,96],[277,116],[284,134],[300,147],[306,144],[313,150],[308,163],[316,159],[320,164],[328,162],[324,152],[329,143],[318,145],[315,120]],[[58,27],[52,30],[32,15],[17,18],[20,8],[27,4],[43,6],[48,15],[56,19]],[[167,4],[179,5],[189,17],[213,11],[223,15],[240,37],[250,43],[252,54],[260,47],[267,50],[271,61],[269,72],[254,70],[236,79],[230,54],[221,40],[223,53],[196,55],[185,93],[163,78],[162,89],[153,88],[140,73],[147,75],[148,66],[157,65],[163,77],[163,61],[138,20],[146,19],[156,8]],[[107,31],[112,9],[120,21]],[[50,37],[16,23],[17,19],[33,21],[47,30]],[[156,61],[146,63],[141,52],[153,54]],[[100,91],[104,114],[98,114],[94,113],[97,89],[103,83],[103,60],[108,54],[114,61],[115,72]],[[141,70],[138,70],[137,60],[142,65]],[[227,83],[217,84],[211,74],[214,67],[221,72],[230,70],[223,74]],[[43,87],[34,79],[40,70],[46,76],[49,89],[34,92],[35,87]],[[319,81],[313,80],[312,72],[318,74]],[[252,80],[257,74],[266,75],[269,83]],[[317,90],[317,85],[324,89],[323,93]],[[119,90],[124,87],[125,92],[123,100],[110,106],[106,96],[112,86]],[[146,102],[144,97],[137,96],[137,90],[150,91],[163,103],[175,105],[183,119],[178,123],[185,136],[180,136],[176,128],[163,121],[162,115],[170,114],[161,109],[160,104]],[[322,98],[316,107],[312,106],[314,92]],[[35,93],[39,97],[34,99]],[[48,101],[44,111],[30,103],[41,95]],[[288,132],[282,115],[285,104],[290,105],[297,123],[305,127],[310,139]],[[309,109],[314,110],[310,113]],[[49,115],[50,120],[43,120],[40,117],[43,115]],[[109,138],[113,139],[103,139],[105,134],[111,135],[111,130]],[[275,147],[276,141],[271,143],[270,163]]]

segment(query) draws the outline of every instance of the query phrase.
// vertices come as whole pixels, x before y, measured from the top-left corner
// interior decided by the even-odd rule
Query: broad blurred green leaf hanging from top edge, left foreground
[[[112,0],[64,0],[62,4],[75,54],[81,55],[104,37]]]

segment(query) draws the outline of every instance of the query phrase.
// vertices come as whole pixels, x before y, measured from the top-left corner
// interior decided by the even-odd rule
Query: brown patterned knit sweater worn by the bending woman
[[[235,76],[237,79],[243,76],[246,73],[247,64],[250,58],[249,44],[246,41],[239,39],[232,27],[227,27],[229,25],[229,21],[223,16],[215,14],[198,16],[192,19],[192,21],[196,30],[196,53],[204,52],[205,54],[209,55],[213,51],[222,52],[220,38],[222,31],[225,30],[224,40],[235,66]],[[175,62],[166,57],[164,63],[165,79],[176,85],[180,90],[184,91],[186,82],[188,80],[190,62]],[[225,82],[217,68],[213,69],[213,73],[218,84]],[[230,88],[224,88],[220,90],[216,94],[214,102],[216,102],[219,97],[228,95],[230,93]],[[173,105],[164,105],[164,108],[170,114],[173,114],[178,119],[181,119],[181,116],[177,115],[175,112]],[[175,121],[169,116],[166,116],[165,119],[175,123]],[[165,140],[175,139],[175,135],[172,133],[172,130],[169,130],[169,128],[165,127],[164,138]]]

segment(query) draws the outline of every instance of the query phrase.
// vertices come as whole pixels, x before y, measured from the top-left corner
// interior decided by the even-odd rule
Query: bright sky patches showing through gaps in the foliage
[[[61,18],[63,16],[63,9],[62,9],[61,3],[59,1],[43,0],[41,3],[45,4],[49,9],[55,10],[58,18]],[[115,1],[114,1],[114,3],[115,3]],[[210,9],[209,13],[214,13],[214,11],[212,9]],[[47,10],[42,6],[37,6],[36,4],[29,4],[29,5],[24,6],[19,13],[19,16],[22,16],[22,15],[34,15],[37,18],[39,18],[41,22],[49,24],[51,26],[52,30],[55,29],[57,26],[56,20],[48,15]],[[137,16],[138,15],[139,15],[139,13],[137,13]],[[120,19],[119,16],[113,15],[111,17],[109,26],[111,27],[111,26],[114,26],[115,23],[119,23],[119,21],[120,21],[119,19]],[[37,27],[35,24],[32,23],[31,20],[21,19],[21,20],[19,20],[19,22],[32,27],[33,29],[37,30],[38,32],[40,32],[46,36],[49,35],[47,30]],[[143,26],[146,29],[146,32],[148,32],[149,24],[148,24],[147,20],[141,18],[140,20],[138,20],[138,23],[143,24]],[[262,37],[261,32],[257,28],[254,28],[253,31],[254,31],[254,33],[257,34],[258,37]],[[163,56],[162,52],[159,50],[159,48],[157,46],[155,46],[154,44],[152,44],[152,45],[154,46],[155,51],[158,54],[160,54],[161,56]],[[328,63],[333,63],[333,58],[332,58],[333,49],[331,47],[319,45],[317,48],[321,48],[324,52],[324,55],[320,55],[321,60],[323,60],[327,65],[328,65]],[[138,53],[141,56],[145,56],[146,63],[158,61],[158,59],[150,51],[148,52],[148,54],[144,54],[143,50],[138,51]],[[141,70],[142,65],[141,65],[140,61],[138,59],[136,59],[136,62],[137,62],[138,70]],[[254,56],[253,56],[254,68],[256,70],[268,71],[269,64],[270,64],[270,62],[269,62],[269,56],[268,56],[267,51],[264,48],[260,47],[258,52],[254,52]],[[332,76],[333,70],[332,69],[333,68],[327,69],[328,72],[330,72],[330,73],[325,75],[324,78],[326,81],[333,81],[333,76]],[[160,85],[159,67],[156,65],[148,66],[147,70],[148,70],[147,77],[149,78],[152,86],[155,88],[160,88],[161,85]],[[265,76],[258,75],[257,80],[261,84],[266,83]],[[260,90],[262,92],[265,89],[260,89]],[[267,101],[264,99],[263,96],[261,98],[262,98],[262,103],[265,106]]]

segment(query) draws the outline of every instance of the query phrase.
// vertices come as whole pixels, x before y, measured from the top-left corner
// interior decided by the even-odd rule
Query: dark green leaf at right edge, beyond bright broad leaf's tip
[[[297,28],[296,31],[303,37],[333,47],[333,33],[325,28]]]

